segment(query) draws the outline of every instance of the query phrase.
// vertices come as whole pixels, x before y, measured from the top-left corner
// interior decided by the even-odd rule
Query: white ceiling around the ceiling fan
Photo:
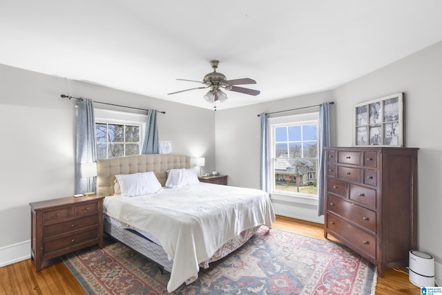
[[[261,91],[227,91],[223,109],[332,89],[441,40],[439,0],[0,0],[0,64],[210,109],[206,89],[167,93],[202,86],[176,78],[202,80],[211,59]]]

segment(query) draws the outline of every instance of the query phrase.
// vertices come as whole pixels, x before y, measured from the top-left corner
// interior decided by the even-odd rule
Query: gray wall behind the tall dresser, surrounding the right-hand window
[[[332,145],[352,146],[354,105],[398,92],[405,93],[406,146],[419,147],[419,250],[435,256],[436,277],[440,283],[442,137],[439,110],[442,108],[442,42],[333,91],[217,111],[216,166],[221,173],[229,174],[230,184],[259,188],[258,113],[334,101],[336,104],[331,106],[334,126]]]

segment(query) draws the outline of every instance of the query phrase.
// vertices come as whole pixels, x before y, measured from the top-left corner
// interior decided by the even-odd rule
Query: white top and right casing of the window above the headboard
[[[95,124],[117,124],[140,126],[140,151],[144,140],[144,129],[146,128],[147,115],[113,111],[104,108],[95,108]],[[97,142],[96,144],[99,144]],[[107,155],[106,155],[107,156]]]

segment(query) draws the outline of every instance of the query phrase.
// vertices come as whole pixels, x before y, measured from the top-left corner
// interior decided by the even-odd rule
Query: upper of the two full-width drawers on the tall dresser
[[[327,211],[332,211],[346,220],[351,220],[372,234],[376,234],[376,212],[352,204],[334,196],[327,196]]]

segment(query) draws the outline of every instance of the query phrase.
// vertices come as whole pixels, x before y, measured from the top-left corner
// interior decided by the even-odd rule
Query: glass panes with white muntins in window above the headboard
[[[140,126],[95,123],[97,160],[140,155]]]

